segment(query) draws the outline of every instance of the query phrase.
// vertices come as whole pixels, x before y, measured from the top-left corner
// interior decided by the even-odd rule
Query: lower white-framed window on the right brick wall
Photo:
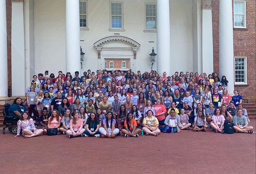
[[[246,57],[235,57],[235,84],[247,84]]]

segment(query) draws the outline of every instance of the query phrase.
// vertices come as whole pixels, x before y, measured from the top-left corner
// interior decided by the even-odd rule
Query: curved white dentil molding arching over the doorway
[[[133,39],[126,38],[123,36],[109,36],[106,38],[102,38],[102,39],[98,40],[97,42],[95,42],[93,45],[96,48],[96,47],[102,47],[103,45],[105,45],[107,43],[111,43],[111,42],[122,42],[122,43],[130,45],[132,48],[140,47],[140,44],[138,42],[134,41]]]

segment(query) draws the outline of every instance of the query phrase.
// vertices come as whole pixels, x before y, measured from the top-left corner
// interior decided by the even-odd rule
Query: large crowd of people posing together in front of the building
[[[158,136],[209,128],[224,133],[225,121],[233,122],[236,133],[252,134],[242,96],[234,90],[231,98],[228,87],[226,76],[220,79],[217,73],[87,70],[81,77],[76,71],[73,78],[69,72],[55,77],[45,71],[34,75],[25,91],[29,111],[16,98],[9,115],[20,117],[16,136],[21,131],[25,138],[51,128],[69,138]]]

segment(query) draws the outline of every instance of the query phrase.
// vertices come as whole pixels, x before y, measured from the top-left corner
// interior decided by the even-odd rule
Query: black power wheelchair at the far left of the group
[[[5,127],[3,128],[3,134],[5,134],[5,128],[8,128],[8,130],[13,133],[17,134],[17,122],[20,119],[19,116],[9,116],[8,115],[8,109],[11,105],[10,104],[5,104],[4,109],[3,109],[3,115],[4,115],[4,122],[3,124]]]

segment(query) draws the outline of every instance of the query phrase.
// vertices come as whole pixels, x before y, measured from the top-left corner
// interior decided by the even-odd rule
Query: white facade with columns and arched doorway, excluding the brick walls
[[[5,2],[4,0],[1,0]],[[220,61],[233,60],[232,1],[220,0]],[[1,23],[6,23],[5,4]],[[24,0],[12,2],[12,96],[23,96],[34,74],[55,76],[78,70],[111,69],[107,60],[126,60],[123,70],[214,72],[211,0]],[[6,74],[6,35],[0,35],[1,73]],[[3,45],[3,46],[2,46]],[[80,46],[85,53],[83,69]],[[221,65],[220,65],[221,66]],[[121,69],[121,68],[118,68]],[[223,70],[223,72],[221,71]],[[220,76],[234,79],[233,66]],[[7,84],[7,77],[0,77]],[[6,83],[5,83],[6,82]],[[19,84],[19,85],[17,85]],[[229,81],[229,91],[234,82]],[[1,91],[1,90],[0,90]],[[3,90],[1,97],[7,96]]]

